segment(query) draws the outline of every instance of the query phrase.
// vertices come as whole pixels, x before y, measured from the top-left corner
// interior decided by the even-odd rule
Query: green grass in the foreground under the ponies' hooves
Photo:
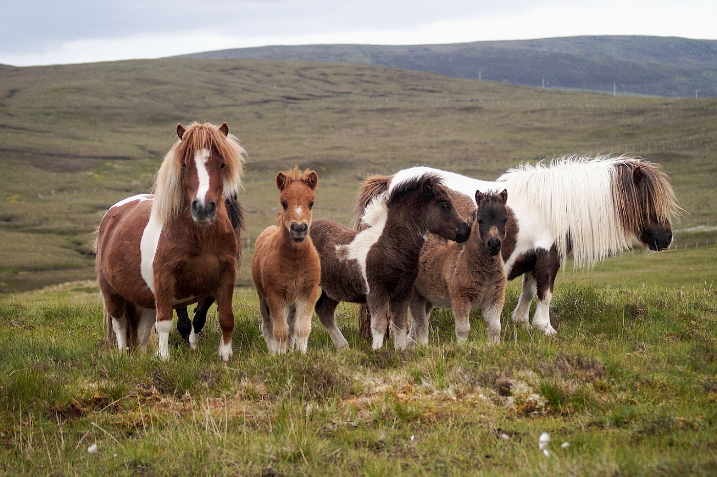
[[[214,311],[199,350],[173,332],[161,362],[105,348],[90,281],[6,296],[0,472],[713,475],[716,249],[617,257],[592,279],[566,271],[556,337],[513,327],[520,284],[511,282],[495,347],[479,314],[460,345],[440,311],[427,346],[374,352],[356,309],[342,304],[347,350],[336,352],[314,319],[307,354],[270,356],[256,295],[237,289],[226,365]],[[692,261],[702,284],[655,274]],[[613,265],[622,272],[601,268]],[[543,432],[549,457],[538,450]]]

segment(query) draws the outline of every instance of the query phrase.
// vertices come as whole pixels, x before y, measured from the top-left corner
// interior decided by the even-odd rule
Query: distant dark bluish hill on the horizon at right
[[[717,41],[676,37],[567,37],[508,42],[227,49],[192,58],[376,64],[515,85],[621,95],[717,96]]]

